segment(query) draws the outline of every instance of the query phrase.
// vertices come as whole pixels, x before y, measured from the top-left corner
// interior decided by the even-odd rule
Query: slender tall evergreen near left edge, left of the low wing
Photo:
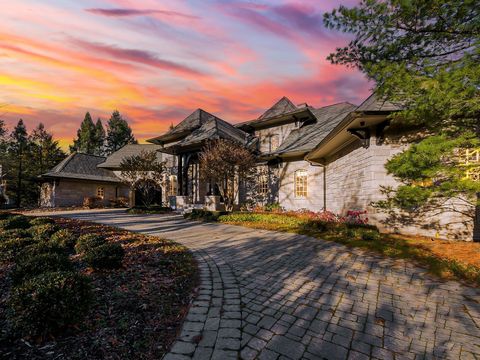
[[[11,189],[15,193],[16,204],[22,205],[23,183],[25,177],[25,163],[28,161],[28,133],[23,120],[20,119],[10,134],[9,154],[13,157],[10,161],[10,176],[15,174],[15,182]],[[15,161],[12,161],[15,160]]]

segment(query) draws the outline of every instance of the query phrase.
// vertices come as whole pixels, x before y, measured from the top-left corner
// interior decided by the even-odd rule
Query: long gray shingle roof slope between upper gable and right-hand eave
[[[312,150],[345,116],[355,110],[356,105],[348,102],[325,106],[319,109],[310,108],[316,117],[315,123],[305,124],[292,130],[272,155],[307,152]]]

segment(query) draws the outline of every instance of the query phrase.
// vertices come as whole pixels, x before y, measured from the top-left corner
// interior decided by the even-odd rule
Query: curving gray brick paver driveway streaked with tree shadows
[[[173,239],[199,259],[199,296],[165,359],[480,359],[480,291],[404,261],[178,216],[73,216]]]

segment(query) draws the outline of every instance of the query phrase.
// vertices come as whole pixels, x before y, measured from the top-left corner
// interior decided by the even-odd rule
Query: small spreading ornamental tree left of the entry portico
[[[142,151],[122,160],[120,178],[132,191],[140,192],[143,205],[149,207],[154,200],[152,189],[163,185],[165,162],[158,160],[156,151]]]

